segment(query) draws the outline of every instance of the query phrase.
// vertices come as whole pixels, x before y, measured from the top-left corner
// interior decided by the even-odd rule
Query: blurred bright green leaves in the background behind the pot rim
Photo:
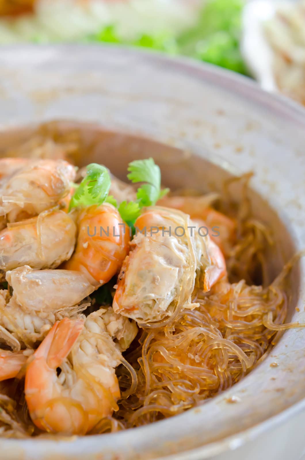
[[[240,54],[241,15],[244,0],[208,0],[193,27],[175,36],[170,30],[123,40],[114,25],[90,37],[90,41],[141,46],[171,55],[183,55],[246,74]]]

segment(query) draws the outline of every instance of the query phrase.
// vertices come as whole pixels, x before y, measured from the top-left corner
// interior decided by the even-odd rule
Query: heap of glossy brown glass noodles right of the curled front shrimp
[[[115,414],[125,427],[181,413],[244,377],[268,351],[283,325],[287,298],[281,288],[245,282],[220,283],[194,292],[199,308],[182,310],[171,325],[143,329],[126,359],[137,373],[137,389]],[[129,376],[120,369],[121,385]]]

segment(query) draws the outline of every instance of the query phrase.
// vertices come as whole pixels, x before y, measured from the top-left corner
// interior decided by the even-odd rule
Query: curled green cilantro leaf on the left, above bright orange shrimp
[[[73,207],[88,207],[102,204],[111,185],[110,175],[105,166],[91,163],[87,174],[71,198],[69,211]]]

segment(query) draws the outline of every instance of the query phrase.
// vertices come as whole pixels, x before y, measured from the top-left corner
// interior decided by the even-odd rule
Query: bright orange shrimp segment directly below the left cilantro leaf
[[[88,207],[78,218],[75,252],[64,268],[81,271],[97,288],[120,271],[129,251],[129,239],[129,227],[115,207]]]

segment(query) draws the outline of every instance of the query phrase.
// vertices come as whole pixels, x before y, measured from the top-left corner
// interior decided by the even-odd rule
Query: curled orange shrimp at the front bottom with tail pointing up
[[[91,328],[90,319],[55,323],[27,368],[25,399],[43,431],[86,434],[117,409],[121,354],[109,334]]]

